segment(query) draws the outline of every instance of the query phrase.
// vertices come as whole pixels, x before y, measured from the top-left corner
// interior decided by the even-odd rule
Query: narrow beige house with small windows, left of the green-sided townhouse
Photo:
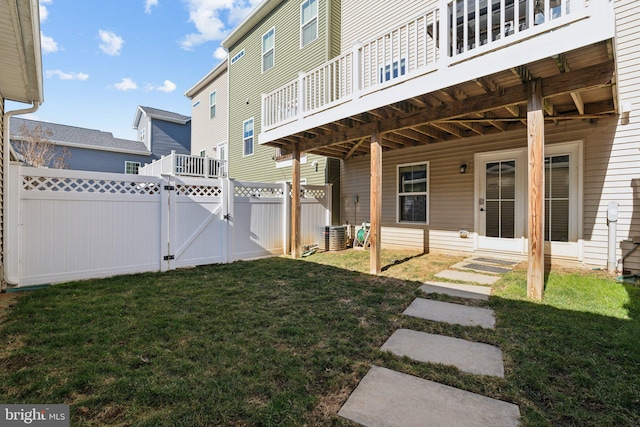
[[[191,154],[228,160],[227,61],[215,66],[185,96],[191,100]]]

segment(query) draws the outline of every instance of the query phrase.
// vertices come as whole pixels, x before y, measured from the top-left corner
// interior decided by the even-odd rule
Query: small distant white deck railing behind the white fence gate
[[[224,178],[227,176],[227,162],[211,157],[177,154],[172,151],[168,156],[142,166],[139,175],[147,176],[189,176],[200,178]]]

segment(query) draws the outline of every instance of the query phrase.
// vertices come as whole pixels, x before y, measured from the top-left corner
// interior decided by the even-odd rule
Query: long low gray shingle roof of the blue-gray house
[[[143,142],[115,138],[111,132],[61,125],[57,123],[46,123],[17,117],[11,118],[12,140],[18,141],[21,139],[20,128],[23,125],[29,130],[33,130],[36,126],[41,125],[43,130],[51,131],[51,135],[48,136],[47,139],[55,145],[140,155],[151,154]]]

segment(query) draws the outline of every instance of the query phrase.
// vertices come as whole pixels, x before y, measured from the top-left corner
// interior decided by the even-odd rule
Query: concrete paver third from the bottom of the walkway
[[[424,298],[416,298],[402,314],[436,322],[483,328],[493,328],[496,322],[493,310]]]

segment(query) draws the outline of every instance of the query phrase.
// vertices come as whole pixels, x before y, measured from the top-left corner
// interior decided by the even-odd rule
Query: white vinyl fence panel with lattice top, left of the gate
[[[162,180],[12,167],[9,274],[21,285],[160,269]],[[17,256],[16,256],[17,255]]]

